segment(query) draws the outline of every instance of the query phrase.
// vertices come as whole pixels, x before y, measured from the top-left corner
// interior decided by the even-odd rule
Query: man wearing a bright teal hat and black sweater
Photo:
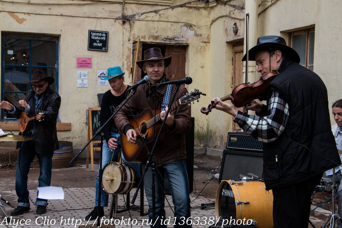
[[[126,99],[130,88],[129,85],[125,85],[124,75],[121,67],[111,67],[107,70],[107,76],[104,80],[108,80],[111,87],[110,90],[104,93],[101,102],[101,114],[100,122],[101,126],[113,115],[114,110],[118,107],[121,102]],[[115,125],[114,120],[111,118],[108,123],[103,127],[102,132],[104,133],[105,141],[102,146],[102,169],[110,161],[116,162],[118,153],[121,150],[119,130]],[[139,163],[128,163],[125,164],[131,166],[135,172],[135,177],[140,177],[140,164]],[[93,211],[86,216],[86,220],[93,220],[97,217],[97,205],[98,205],[98,185],[99,175],[96,177],[96,195],[95,204]],[[104,215],[103,207],[108,206],[108,194],[101,188],[101,204],[100,204],[100,215]]]

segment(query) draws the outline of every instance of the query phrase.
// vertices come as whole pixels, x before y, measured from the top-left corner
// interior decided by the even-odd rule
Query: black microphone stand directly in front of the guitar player
[[[173,100],[174,100],[174,98],[175,98],[175,96],[176,96],[176,93],[178,93],[179,87],[180,87],[180,85],[176,85],[176,88],[175,88],[174,93],[173,93],[173,97],[172,97],[172,99],[171,99],[171,102],[169,102],[169,104],[173,104]],[[157,86],[157,89],[158,89],[158,86]],[[136,199],[136,197],[137,197],[137,195],[138,195],[138,191],[139,191],[139,188],[140,188],[140,184],[141,184],[142,180],[144,179],[144,176],[145,176],[145,173],[147,172],[149,163],[152,163],[152,164],[151,164],[151,167],[152,167],[152,186],[151,186],[151,187],[152,187],[152,219],[153,219],[153,221],[152,221],[151,224],[154,224],[153,227],[155,227],[155,222],[154,222],[154,221],[156,220],[156,188],[155,188],[155,183],[154,183],[154,182],[155,182],[155,168],[156,168],[156,162],[153,161],[152,157],[153,157],[153,152],[154,152],[154,149],[155,149],[155,147],[156,147],[156,145],[157,145],[159,136],[160,136],[160,134],[161,134],[161,131],[162,131],[164,125],[165,125],[166,118],[167,118],[168,115],[169,115],[169,112],[170,112],[170,108],[167,110],[167,112],[166,112],[166,114],[165,114],[165,118],[164,118],[164,120],[163,120],[163,122],[162,122],[162,124],[161,124],[161,127],[160,127],[160,130],[159,130],[159,132],[158,132],[158,135],[157,135],[157,137],[155,138],[155,142],[154,142],[154,144],[153,144],[152,150],[151,150],[151,152],[149,152],[149,154],[148,154],[148,159],[147,159],[147,162],[146,162],[146,165],[145,165],[143,174],[141,175],[140,182],[139,182],[139,184],[138,184],[138,186],[137,186],[137,188],[136,188],[136,190],[135,190],[134,196],[133,196],[132,201],[131,201],[131,203],[134,204],[135,199]]]

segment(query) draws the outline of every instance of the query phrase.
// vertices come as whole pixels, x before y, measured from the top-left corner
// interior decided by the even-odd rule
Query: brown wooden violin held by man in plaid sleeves
[[[231,94],[221,98],[222,101],[231,100],[233,105],[237,108],[241,108],[249,104],[252,100],[259,99],[260,101],[266,100],[266,90],[268,84],[278,75],[277,71],[271,71],[261,76],[257,82],[242,83],[235,87]],[[211,109],[215,108],[218,102],[213,100],[208,105],[208,108],[202,107],[201,112],[208,115]]]

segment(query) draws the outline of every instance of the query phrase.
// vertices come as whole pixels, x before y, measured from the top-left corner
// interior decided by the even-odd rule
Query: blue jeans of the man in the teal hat
[[[120,144],[120,134],[119,133],[111,133],[111,136],[113,138],[117,139],[117,144],[118,147],[114,150],[109,149],[106,140],[104,140],[103,142],[103,146],[102,146],[102,170],[104,168],[104,166],[110,162],[117,162],[118,161],[118,153],[121,151],[121,144]],[[122,156],[123,158],[123,156]],[[135,172],[135,177],[139,178],[140,177],[140,163],[133,163],[133,162],[127,162],[126,160],[124,160],[124,163],[131,166],[132,169]],[[98,185],[99,185],[99,173],[97,173],[97,177],[96,177],[96,195],[95,195],[95,204],[97,206],[98,204]],[[101,187],[101,206],[108,206],[108,198],[109,195],[102,189]]]

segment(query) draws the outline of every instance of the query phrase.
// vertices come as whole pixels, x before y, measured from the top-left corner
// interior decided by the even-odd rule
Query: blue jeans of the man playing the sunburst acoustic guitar
[[[190,225],[186,225],[186,219],[190,217],[190,197],[189,180],[188,173],[186,171],[185,160],[173,161],[156,168],[156,219],[158,220],[158,216],[159,220],[162,216],[163,219],[165,219],[165,194],[163,190],[164,182],[160,176],[164,176],[164,173],[166,174],[170,184],[172,202],[174,204],[174,217],[177,219],[175,223],[176,225],[174,225],[174,227],[191,227]],[[152,168],[150,166],[148,167],[148,170],[144,176],[144,186],[146,199],[148,201],[148,218],[152,220]],[[172,218],[171,221],[173,224]],[[162,220],[156,223],[157,228],[166,227],[166,225],[161,225],[161,222]],[[184,223],[184,225],[179,225],[179,223]]]

